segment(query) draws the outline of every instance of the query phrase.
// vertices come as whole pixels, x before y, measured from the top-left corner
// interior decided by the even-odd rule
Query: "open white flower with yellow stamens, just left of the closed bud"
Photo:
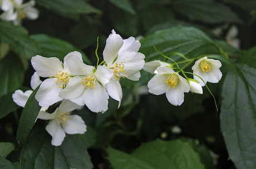
[[[190,90],[188,81],[169,67],[160,66],[156,70],[157,74],[147,83],[149,93],[165,93],[170,104],[181,105],[184,102],[184,93]]]

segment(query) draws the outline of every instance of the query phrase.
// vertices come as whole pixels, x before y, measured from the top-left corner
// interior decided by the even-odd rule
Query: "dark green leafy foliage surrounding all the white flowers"
[[[255,0],[37,0],[36,8],[35,21],[0,21],[0,168],[256,168]],[[229,32],[233,26],[237,33]],[[152,74],[142,70],[139,81],[121,80],[120,109],[110,99],[104,114],[75,111],[87,132],[52,146],[45,122],[34,126],[36,100],[22,109],[12,93],[30,88],[36,54],[63,59],[77,50],[95,64],[96,39],[102,58],[112,29],[140,39],[146,62],[166,61],[154,46],[168,56],[215,55],[223,78],[209,88],[219,111],[206,88],[203,95],[185,94],[181,106],[150,95]],[[237,42],[239,48],[232,46]]]

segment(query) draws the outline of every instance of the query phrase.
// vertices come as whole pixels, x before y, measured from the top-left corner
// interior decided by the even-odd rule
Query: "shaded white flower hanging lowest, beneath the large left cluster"
[[[86,132],[86,125],[82,118],[78,115],[70,115],[75,109],[80,109],[75,103],[69,100],[63,100],[60,106],[49,114],[40,111],[37,118],[42,120],[51,120],[46,126],[46,131],[52,136],[52,145],[60,146],[66,137],[66,134],[83,134]]]

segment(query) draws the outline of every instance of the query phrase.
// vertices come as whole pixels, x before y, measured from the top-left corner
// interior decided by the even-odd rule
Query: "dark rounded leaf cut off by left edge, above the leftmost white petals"
[[[6,95],[7,93],[21,87],[24,78],[24,69],[19,59],[14,55],[7,55],[3,60],[1,60],[0,77],[0,96]]]

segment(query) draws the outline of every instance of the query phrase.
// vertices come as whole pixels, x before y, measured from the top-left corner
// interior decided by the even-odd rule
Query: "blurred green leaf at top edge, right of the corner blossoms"
[[[92,7],[89,3],[83,0],[73,0],[73,1],[37,0],[36,3],[40,6],[56,11],[57,13],[67,17],[71,17],[72,15],[78,15],[78,14],[100,13],[99,9]]]

